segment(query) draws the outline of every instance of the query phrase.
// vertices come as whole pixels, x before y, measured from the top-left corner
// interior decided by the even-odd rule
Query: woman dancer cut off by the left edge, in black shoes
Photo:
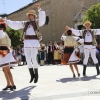
[[[10,50],[11,40],[6,33],[6,24],[0,23],[0,67],[2,67],[7,86],[3,90],[15,90],[13,76],[10,71],[10,64],[14,64],[16,61]]]

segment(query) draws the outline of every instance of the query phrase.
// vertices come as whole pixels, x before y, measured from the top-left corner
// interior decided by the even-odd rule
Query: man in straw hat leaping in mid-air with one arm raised
[[[23,29],[24,37],[24,51],[26,61],[28,64],[29,73],[31,76],[30,83],[34,80],[34,83],[38,82],[38,62],[37,54],[40,47],[39,41],[42,39],[39,34],[39,27],[43,26],[46,22],[46,14],[40,8],[39,4],[35,4],[39,12],[39,18],[36,19],[37,15],[35,10],[29,10],[26,14],[28,21],[11,21],[7,19],[0,19],[12,29],[18,30]]]

